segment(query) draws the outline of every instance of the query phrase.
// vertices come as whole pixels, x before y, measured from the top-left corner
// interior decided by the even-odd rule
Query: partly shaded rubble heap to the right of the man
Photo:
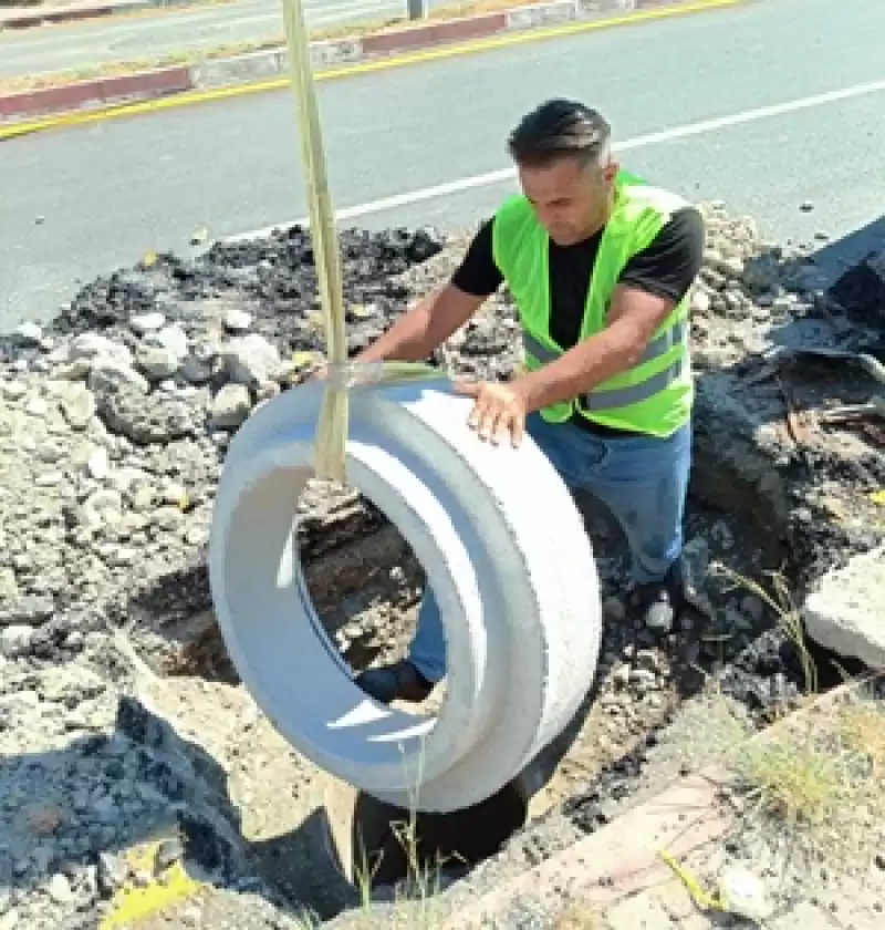
[[[810,581],[882,537],[870,497],[885,487],[882,421],[835,415],[885,391],[851,358],[882,354],[882,329],[834,299],[839,288],[804,249],[760,242],[751,220],[729,219],[721,205],[708,223],[691,319],[698,456],[717,464],[708,474],[730,469],[751,486],[754,502],[745,506],[761,517],[770,508]],[[814,355],[819,349],[845,358]]]

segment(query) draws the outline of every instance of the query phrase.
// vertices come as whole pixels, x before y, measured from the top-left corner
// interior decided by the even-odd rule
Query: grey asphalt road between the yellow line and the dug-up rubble
[[[323,82],[335,205],[506,169],[512,124],[570,94],[608,115],[622,161],[657,183],[725,199],[771,238],[845,236],[885,204],[881,3],[760,0]],[[288,91],[0,143],[0,178],[14,179],[0,186],[0,330],[148,249],[186,251],[202,225],[221,236],[303,216],[295,143]],[[358,221],[450,229],[512,184],[375,205]]]

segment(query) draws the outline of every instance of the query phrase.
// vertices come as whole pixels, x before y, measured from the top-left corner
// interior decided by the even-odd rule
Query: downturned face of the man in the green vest
[[[522,193],[558,246],[573,246],[603,226],[616,174],[612,162],[602,167],[572,157],[544,167],[519,166]]]

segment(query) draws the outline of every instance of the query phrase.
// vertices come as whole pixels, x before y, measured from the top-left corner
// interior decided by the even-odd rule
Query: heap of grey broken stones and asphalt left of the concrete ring
[[[394,276],[439,247],[421,232],[345,239],[352,348],[402,308]],[[114,619],[116,596],[199,565],[230,432],[321,344],[314,291],[308,240],[292,230],[190,265],[154,258],[84,288],[45,332],[24,324],[6,340],[6,653],[76,651]],[[345,514],[352,498],[323,496],[306,557],[324,508],[351,535],[366,528],[373,512]],[[201,593],[190,608],[208,606]]]

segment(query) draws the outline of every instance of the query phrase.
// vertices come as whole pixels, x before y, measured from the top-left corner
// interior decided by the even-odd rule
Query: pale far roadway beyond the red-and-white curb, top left
[[[312,29],[403,16],[406,0],[303,0]],[[431,7],[451,0],[429,0]],[[230,0],[210,7],[85,20],[0,34],[0,78],[138,61],[283,34],[280,0]]]

